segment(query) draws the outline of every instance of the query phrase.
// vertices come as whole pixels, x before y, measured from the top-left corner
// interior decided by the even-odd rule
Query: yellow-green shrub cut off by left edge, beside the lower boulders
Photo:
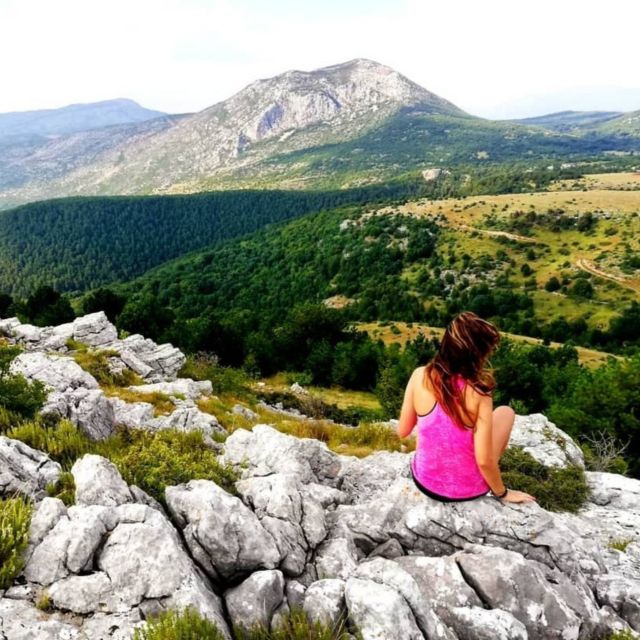
[[[11,585],[24,566],[31,504],[23,498],[0,500],[0,589]]]

